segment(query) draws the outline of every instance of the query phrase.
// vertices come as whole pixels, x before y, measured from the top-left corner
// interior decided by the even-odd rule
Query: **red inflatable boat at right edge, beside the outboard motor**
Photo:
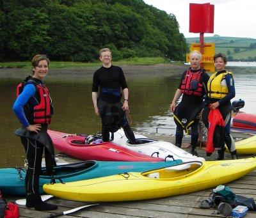
[[[232,120],[232,127],[256,130],[256,115],[239,113]]]

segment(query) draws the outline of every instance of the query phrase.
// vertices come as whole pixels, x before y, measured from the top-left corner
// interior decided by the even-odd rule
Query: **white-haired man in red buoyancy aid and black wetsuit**
[[[173,112],[177,125],[175,135],[175,145],[180,147],[184,130],[191,127],[191,154],[198,156],[196,144],[198,141],[199,113],[203,108],[203,98],[206,93],[206,86],[209,75],[201,68],[202,54],[198,51],[190,53],[191,66],[183,72],[180,79],[170,110]],[[183,95],[182,95],[183,94]],[[176,107],[177,100],[182,95],[182,100]]]

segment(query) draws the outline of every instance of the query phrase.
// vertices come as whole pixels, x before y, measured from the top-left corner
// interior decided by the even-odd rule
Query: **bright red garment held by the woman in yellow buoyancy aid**
[[[214,152],[214,144],[213,144],[213,137],[214,137],[214,130],[217,125],[224,128],[225,121],[223,120],[220,110],[218,108],[216,109],[210,109],[208,114],[208,132],[207,132],[207,144],[205,148],[205,152],[212,153]]]

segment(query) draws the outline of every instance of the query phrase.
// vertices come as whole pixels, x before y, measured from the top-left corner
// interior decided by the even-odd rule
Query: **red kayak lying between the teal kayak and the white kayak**
[[[127,148],[118,146],[111,142],[99,144],[85,144],[86,137],[76,136],[65,132],[48,130],[54,148],[61,153],[76,157],[81,160],[108,160],[108,161],[135,161],[156,162],[164,161],[157,157],[133,152]]]

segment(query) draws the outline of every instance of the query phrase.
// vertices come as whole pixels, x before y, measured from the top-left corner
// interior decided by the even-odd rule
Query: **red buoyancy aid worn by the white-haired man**
[[[200,78],[202,75],[202,70],[198,70],[198,72],[191,72],[191,70],[187,70],[186,75],[182,81],[180,86],[180,91],[186,95],[195,95],[200,97],[203,91],[203,84],[200,82]],[[197,82],[197,88],[191,88],[191,84],[193,81]]]

